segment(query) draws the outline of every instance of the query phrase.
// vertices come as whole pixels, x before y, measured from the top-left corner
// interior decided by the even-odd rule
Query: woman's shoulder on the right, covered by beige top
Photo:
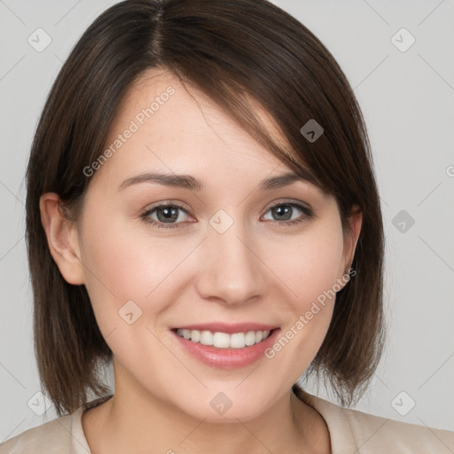
[[[454,452],[454,432],[340,407],[305,391],[297,395],[324,417],[330,431],[333,454]]]

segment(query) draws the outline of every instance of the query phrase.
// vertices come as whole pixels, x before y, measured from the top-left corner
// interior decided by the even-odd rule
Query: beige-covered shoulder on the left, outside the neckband
[[[57,454],[71,452],[71,426],[74,413],[52,419],[26,430],[0,444],[0,454]]]

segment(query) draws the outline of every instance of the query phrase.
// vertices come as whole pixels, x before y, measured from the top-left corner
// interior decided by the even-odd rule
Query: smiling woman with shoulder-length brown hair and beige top
[[[353,91],[286,12],[109,8],[27,168],[35,353],[59,419],[0,453],[451,452],[449,431],[344,408],[383,348],[379,200]]]

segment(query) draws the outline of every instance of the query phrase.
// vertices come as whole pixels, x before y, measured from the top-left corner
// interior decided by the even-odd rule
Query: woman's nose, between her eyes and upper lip
[[[240,222],[223,232],[208,225],[200,246],[196,282],[201,297],[238,305],[266,293],[270,270],[261,260],[259,239]]]

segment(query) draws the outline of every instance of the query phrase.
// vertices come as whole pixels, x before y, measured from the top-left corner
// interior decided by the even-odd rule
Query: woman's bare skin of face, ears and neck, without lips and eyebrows
[[[62,217],[57,194],[41,198],[51,254],[67,282],[86,286],[114,352],[115,395],[82,417],[90,449],[330,452],[325,420],[291,387],[325,338],[334,299],[274,358],[236,370],[189,356],[169,326],[258,322],[285,333],[345,275],[362,216],[352,216],[354,236],[344,238],[336,200],[316,186],[298,181],[259,191],[262,179],[290,169],[166,72],[148,74],[129,90],[106,146],[168,86],[175,94],[90,176],[77,223]],[[280,140],[270,118],[262,119]],[[145,171],[191,175],[206,191],[149,183],[119,190]],[[156,228],[140,217],[167,201],[186,210],[173,221],[180,227]],[[270,207],[288,201],[309,205],[315,216],[279,225]],[[209,223],[220,209],[233,220],[223,233]],[[291,215],[305,216],[298,208]],[[148,217],[163,224],[156,211]],[[132,325],[119,316],[130,300],[142,310]],[[219,392],[232,402],[223,415],[210,405]]]

